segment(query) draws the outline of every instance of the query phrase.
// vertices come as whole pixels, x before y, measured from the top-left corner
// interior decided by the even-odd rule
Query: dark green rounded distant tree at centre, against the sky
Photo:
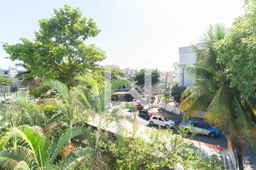
[[[160,78],[160,72],[158,69],[153,69],[153,70],[141,69],[136,74],[133,75],[133,79],[137,81],[138,85],[143,86],[144,79],[145,79],[145,72],[146,74],[150,74],[150,71],[151,71],[151,83],[152,84],[158,83]]]

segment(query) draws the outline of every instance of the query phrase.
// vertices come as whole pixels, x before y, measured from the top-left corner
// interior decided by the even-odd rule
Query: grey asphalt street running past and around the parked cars
[[[158,113],[167,113],[170,114],[171,117],[170,119],[175,121],[176,125],[179,125],[179,121],[180,121],[180,116],[174,113],[170,113],[170,112],[166,112],[161,108],[152,108],[151,109],[154,112],[158,112]],[[136,120],[140,125],[144,125],[144,126],[148,126],[148,127],[154,127],[154,128],[158,128],[158,126],[156,125],[150,125],[149,121],[146,120],[144,117],[142,116],[138,116],[137,120]],[[164,129],[164,127],[163,127]],[[177,130],[174,128],[173,129],[174,134],[178,134]],[[227,148],[227,138],[222,135],[219,138],[210,138],[207,135],[201,135],[198,134],[195,137],[193,137],[193,140],[195,141],[199,141],[199,142],[204,142],[204,143],[209,143],[211,145],[218,145],[224,148]],[[251,148],[245,148],[245,154],[244,154],[244,167],[245,169],[249,170],[249,169],[256,169],[256,151],[251,149]]]

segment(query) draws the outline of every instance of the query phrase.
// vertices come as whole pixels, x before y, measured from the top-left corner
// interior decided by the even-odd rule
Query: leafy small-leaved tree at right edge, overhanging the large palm
[[[230,87],[237,87],[243,99],[248,99],[256,87],[256,1],[246,1],[245,6],[246,13],[234,21],[217,47],[218,62],[226,66]]]

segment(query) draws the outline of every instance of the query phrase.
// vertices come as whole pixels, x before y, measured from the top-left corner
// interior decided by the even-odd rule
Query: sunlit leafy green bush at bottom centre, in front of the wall
[[[125,138],[122,148],[109,146],[113,169],[222,169],[222,164],[197,153],[199,148],[183,141],[171,130],[158,130],[146,142],[141,137]],[[200,152],[200,151],[199,151]],[[109,157],[111,157],[109,155]]]

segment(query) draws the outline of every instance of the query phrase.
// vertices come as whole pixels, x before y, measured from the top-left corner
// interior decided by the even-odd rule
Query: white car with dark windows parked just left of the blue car
[[[175,122],[163,116],[152,115],[150,117],[150,125],[160,125],[165,126],[166,128],[174,128]]]

